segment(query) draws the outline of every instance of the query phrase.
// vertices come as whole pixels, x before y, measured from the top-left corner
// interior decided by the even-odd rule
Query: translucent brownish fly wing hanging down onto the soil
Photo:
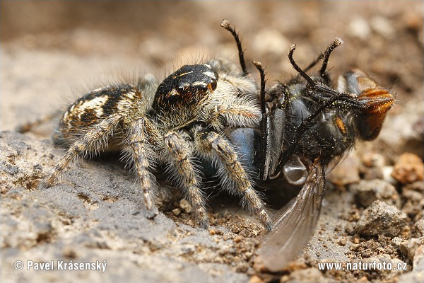
[[[324,168],[317,164],[298,196],[280,209],[273,231],[264,238],[259,255],[268,270],[283,270],[305,248],[317,226],[324,190]]]

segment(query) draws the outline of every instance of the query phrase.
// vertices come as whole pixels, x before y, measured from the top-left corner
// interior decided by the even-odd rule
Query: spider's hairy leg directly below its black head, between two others
[[[208,229],[208,214],[206,214],[204,196],[200,189],[201,178],[194,167],[189,143],[177,132],[168,132],[163,137],[163,141],[177,185],[187,192],[189,202],[194,208],[194,216],[200,226]]]

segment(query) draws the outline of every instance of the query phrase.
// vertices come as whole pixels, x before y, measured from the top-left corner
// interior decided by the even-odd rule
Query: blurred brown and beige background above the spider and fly
[[[240,31],[247,62],[256,59],[266,66],[270,85],[295,75],[287,59],[290,44],[297,44],[295,59],[305,66],[339,36],[344,44],[329,64],[334,81],[351,67],[368,72],[396,93],[399,102],[391,115],[402,112],[408,100],[421,99],[423,91],[420,1],[1,1],[0,5],[0,129],[14,129],[65,107],[100,84],[146,72],[161,79],[182,64],[216,56],[237,62],[235,43],[219,26],[224,18]]]

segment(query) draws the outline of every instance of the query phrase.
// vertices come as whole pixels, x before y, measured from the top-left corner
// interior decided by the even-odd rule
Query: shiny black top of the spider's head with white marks
[[[158,86],[153,109],[178,111],[199,105],[216,89],[218,73],[208,64],[184,65]]]

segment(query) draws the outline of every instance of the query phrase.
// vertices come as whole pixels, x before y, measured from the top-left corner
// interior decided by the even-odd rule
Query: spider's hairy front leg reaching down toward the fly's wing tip
[[[253,184],[231,144],[216,132],[198,132],[195,142],[203,156],[212,161],[219,161],[220,170],[218,172],[222,177],[221,180],[224,180],[223,187],[232,193],[241,195],[243,203],[257,214],[267,230],[271,230],[271,219],[266,212],[264,201],[254,190]]]

